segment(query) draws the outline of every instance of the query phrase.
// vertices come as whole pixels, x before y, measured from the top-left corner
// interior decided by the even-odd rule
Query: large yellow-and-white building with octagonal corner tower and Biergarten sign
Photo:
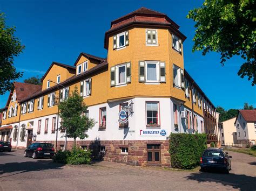
[[[18,101],[21,114],[5,117],[2,128],[14,127],[13,146],[26,147],[31,140],[56,144],[57,136],[58,149],[71,148],[65,129],[56,132],[57,98],[65,100],[77,86],[89,106],[86,115],[97,122],[77,145],[105,152],[107,161],[170,166],[171,132],[206,132],[208,142],[217,136],[215,107],[184,69],[185,39],[173,20],[146,8],[113,20],[105,33],[107,58],[80,53],[75,67],[53,62],[42,89]],[[126,124],[118,121],[121,109]]]

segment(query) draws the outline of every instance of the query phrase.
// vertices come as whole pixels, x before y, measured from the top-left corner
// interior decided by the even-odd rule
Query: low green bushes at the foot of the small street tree
[[[58,151],[53,161],[71,165],[90,164],[91,152],[73,147],[71,151]]]

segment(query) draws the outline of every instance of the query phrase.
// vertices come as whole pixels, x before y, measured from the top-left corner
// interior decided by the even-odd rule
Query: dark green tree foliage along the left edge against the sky
[[[12,81],[22,76],[16,72],[14,57],[22,52],[24,46],[14,36],[15,27],[5,25],[4,13],[0,13],[0,95],[12,89]]]

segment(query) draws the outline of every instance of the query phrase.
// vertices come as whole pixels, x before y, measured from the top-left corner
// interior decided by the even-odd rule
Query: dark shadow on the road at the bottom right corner
[[[186,176],[188,180],[198,182],[216,182],[224,186],[232,186],[241,190],[255,190],[256,177],[244,174],[220,174],[220,173],[192,173]]]

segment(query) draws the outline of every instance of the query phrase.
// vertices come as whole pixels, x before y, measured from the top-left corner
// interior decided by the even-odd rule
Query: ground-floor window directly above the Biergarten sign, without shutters
[[[159,102],[146,102],[146,124],[147,126],[160,126]]]

